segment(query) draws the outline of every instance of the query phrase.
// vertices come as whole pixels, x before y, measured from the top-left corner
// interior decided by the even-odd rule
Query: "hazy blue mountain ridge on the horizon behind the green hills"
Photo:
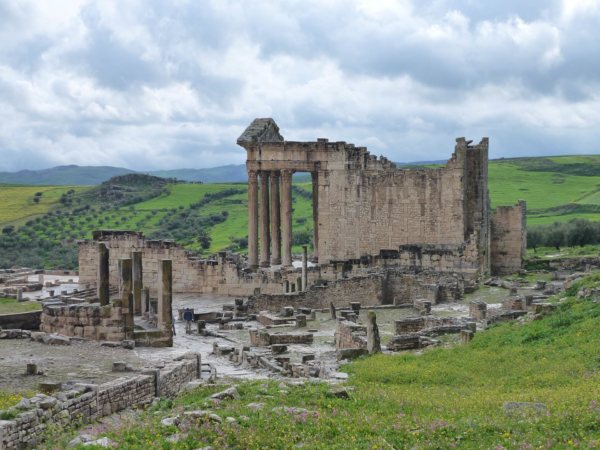
[[[397,165],[444,164],[440,161],[416,161],[396,163]],[[245,164],[229,164],[209,169],[173,169],[136,171],[112,166],[56,166],[42,170],[20,170],[18,172],[0,172],[0,183],[49,186],[95,186],[118,175],[127,173],[145,173],[162,178],[177,178],[186,181],[204,183],[226,183],[248,181]],[[302,176],[302,174],[298,174]]]

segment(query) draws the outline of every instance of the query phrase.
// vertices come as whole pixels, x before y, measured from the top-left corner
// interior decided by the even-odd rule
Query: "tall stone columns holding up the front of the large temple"
[[[252,269],[259,267],[259,217],[260,267],[292,266],[292,176],[294,172],[294,170],[248,171],[248,264]],[[319,225],[318,175],[317,172],[311,172],[311,175],[313,181],[313,254],[316,259]]]

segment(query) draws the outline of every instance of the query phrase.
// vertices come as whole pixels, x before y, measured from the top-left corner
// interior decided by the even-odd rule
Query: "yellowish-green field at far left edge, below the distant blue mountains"
[[[60,196],[70,189],[81,192],[85,186],[23,186],[0,184],[0,225],[44,214],[55,208]],[[42,192],[39,203],[33,199]]]

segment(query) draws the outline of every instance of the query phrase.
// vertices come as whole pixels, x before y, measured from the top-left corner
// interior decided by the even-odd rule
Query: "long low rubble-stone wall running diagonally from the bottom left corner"
[[[190,359],[134,378],[81,385],[81,390],[49,397],[38,395],[32,399],[32,409],[20,413],[14,420],[0,420],[0,448],[33,448],[51,424],[67,425],[79,420],[88,423],[127,408],[149,405],[157,396],[173,397],[186,383],[200,378],[200,355],[186,358]]]

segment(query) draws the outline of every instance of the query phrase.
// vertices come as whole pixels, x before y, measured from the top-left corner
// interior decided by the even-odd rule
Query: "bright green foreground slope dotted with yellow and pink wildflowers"
[[[236,382],[240,399],[207,403],[225,386],[206,386],[88,432],[119,449],[597,448],[600,303],[577,299],[582,286],[600,287],[600,274],[576,283],[557,311],[541,320],[494,325],[468,345],[346,365],[347,399],[334,396],[327,383]],[[539,409],[509,413],[505,402],[537,403]],[[207,408],[223,422],[160,424]],[[50,434],[45,448],[64,449],[73,434]]]

